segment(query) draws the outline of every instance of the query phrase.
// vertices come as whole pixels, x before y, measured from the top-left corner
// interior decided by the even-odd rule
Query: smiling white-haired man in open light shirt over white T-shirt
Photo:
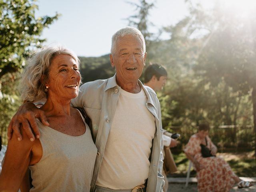
[[[98,148],[91,191],[162,191],[160,103],[155,92],[138,80],[146,62],[145,40],[138,29],[126,27],[113,35],[110,62],[116,74],[85,83],[72,101],[90,117]],[[22,139],[18,131],[22,122],[31,140],[34,136],[27,122],[38,138],[34,117],[48,124],[40,109],[22,106],[10,123],[9,138],[13,129]]]

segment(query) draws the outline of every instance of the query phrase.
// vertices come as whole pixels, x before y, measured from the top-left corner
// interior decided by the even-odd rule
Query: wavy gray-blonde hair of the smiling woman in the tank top
[[[47,97],[44,91],[45,83],[49,78],[51,62],[57,54],[70,55],[79,66],[79,59],[71,50],[61,45],[45,46],[28,59],[20,80],[19,90],[21,98],[26,101],[36,101]],[[42,82],[42,76],[44,76]]]

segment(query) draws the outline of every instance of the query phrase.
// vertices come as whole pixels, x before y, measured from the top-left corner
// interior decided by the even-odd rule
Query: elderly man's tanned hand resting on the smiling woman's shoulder
[[[31,141],[35,140],[34,134],[36,135],[36,138],[40,138],[36,118],[40,118],[42,124],[49,126],[44,111],[38,109],[33,103],[28,102],[20,106],[16,114],[14,114],[12,117],[12,120],[8,126],[8,140],[12,138],[12,132],[16,134],[19,141],[22,140],[22,135],[20,134],[20,124],[22,124],[24,131]],[[32,133],[32,130],[34,131],[34,134]]]

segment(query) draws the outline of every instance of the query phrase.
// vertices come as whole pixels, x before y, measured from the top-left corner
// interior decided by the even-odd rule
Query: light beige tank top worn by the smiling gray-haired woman
[[[90,191],[97,148],[88,125],[84,134],[70,136],[36,121],[43,154],[38,163],[29,166],[34,186],[30,191]]]

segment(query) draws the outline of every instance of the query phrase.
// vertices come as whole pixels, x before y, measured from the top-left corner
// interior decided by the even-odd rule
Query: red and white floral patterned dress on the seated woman
[[[208,136],[207,147],[212,147],[212,141]],[[201,154],[200,144],[202,139],[196,134],[190,137],[188,144],[186,144],[185,152],[189,153],[195,158],[203,169],[196,172],[198,180],[198,192],[228,192],[235,184],[234,177],[236,176],[231,170],[229,164],[220,157],[203,158]]]

